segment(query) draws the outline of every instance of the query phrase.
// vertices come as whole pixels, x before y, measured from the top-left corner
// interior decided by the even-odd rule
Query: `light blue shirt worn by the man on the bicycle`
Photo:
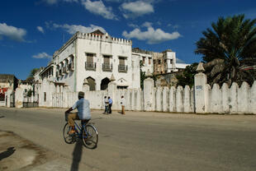
[[[78,109],[78,117],[80,119],[91,119],[90,103],[88,99],[78,99],[78,101],[73,104],[72,109]]]

